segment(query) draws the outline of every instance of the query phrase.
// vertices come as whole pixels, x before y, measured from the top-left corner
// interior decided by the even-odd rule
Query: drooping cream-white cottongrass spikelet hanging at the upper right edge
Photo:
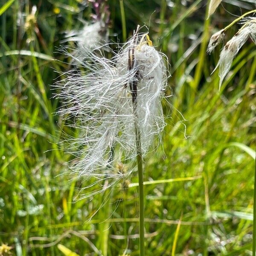
[[[239,29],[236,35],[227,42],[224,48],[221,50],[220,58],[217,67],[219,67],[219,89],[224,80],[224,77],[230,70],[233,59],[239,52],[239,49],[244,45],[247,39],[250,37],[254,43],[256,42],[256,19],[246,19],[244,20],[244,25]],[[213,70],[213,72],[215,71]]]

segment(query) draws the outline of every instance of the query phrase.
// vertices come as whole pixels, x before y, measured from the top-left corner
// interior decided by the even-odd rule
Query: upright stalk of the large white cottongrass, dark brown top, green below
[[[139,30],[139,26],[137,27],[137,31],[134,33],[134,45],[137,41],[137,33]],[[134,48],[129,50],[128,56],[128,70],[132,70],[134,68]],[[137,111],[137,81],[139,79],[139,71],[137,70],[135,73],[135,77],[133,82],[130,83],[131,97],[133,103],[133,112],[134,112],[134,131],[135,131],[135,139],[136,139],[136,148],[137,148],[137,166],[138,166],[138,176],[139,176],[139,204],[140,204],[140,256],[145,255],[144,249],[144,188],[143,188],[143,157],[141,150],[141,137],[140,137],[140,128],[138,125],[139,115]]]

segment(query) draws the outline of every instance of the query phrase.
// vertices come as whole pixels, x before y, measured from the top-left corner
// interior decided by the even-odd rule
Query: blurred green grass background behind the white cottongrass
[[[206,20],[206,0],[108,1],[111,40],[122,42],[145,24],[172,66],[163,145],[145,159],[144,180],[159,180],[145,185],[148,256],[251,255],[256,48],[250,40],[242,47],[220,92],[218,73],[210,73],[222,46],[212,55],[206,48],[214,32],[254,3],[227,2]],[[76,131],[54,114],[60,103],[50,85],[61,79],[55,70],[69,68],[56,51],[64,32],[81,27],[79,18],[90,20],[84,3],[0,1],[0,245],[9,244],[12,255],[63,255],[58,244],[80,256],[139,255],[138,187],[121,184],[74,202],[90,181],[60,175],[73,160],[61,131]],[[137,175],[123,182],[136,183]]]

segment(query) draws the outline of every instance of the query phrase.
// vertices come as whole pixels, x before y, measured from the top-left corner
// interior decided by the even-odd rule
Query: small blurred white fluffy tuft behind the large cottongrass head
[[[84,27],[80,30],[73,30],[65,36],[62,42],[74,41],[79,47],[96,49],[108,42],[108,26],[102,20],[96,20],[94,23],[82,21]]]

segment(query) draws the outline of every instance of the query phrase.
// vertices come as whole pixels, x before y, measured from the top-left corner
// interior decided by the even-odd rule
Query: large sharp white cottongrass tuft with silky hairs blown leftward
[[[129,68],[131,51],[134,65]],[[152,47],[147,34],[136,33],[117,52],[112,51],[111,59],[105,58],[101,47],[94,51],[79,47],[79,57],[67,54],[74,59],[74,68],[55,85],[63,102],[58,113],[73,120],[71,126],[79,130],[79,137],[67,140],[67,151],[77,158],[70,168],[84,178],[94,177],[89,186],[99,185],[85,193],[87,197],[102,191],[102,180],[109,180],[104,186],[107,189],[131,175],[132,168],[124,173],[116,166],[137,156],[134,121],[140,129],[143,156],[154,136],[163,130],[160,101],[167,85],[167,70],[164,56]],[[134,81],[137,115],[129,86]]]

